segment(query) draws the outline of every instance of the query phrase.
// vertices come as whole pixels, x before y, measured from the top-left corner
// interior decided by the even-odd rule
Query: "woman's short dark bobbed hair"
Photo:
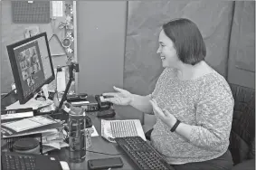
[[[195,65],[204,61],[205,43],[196,24],[186,18],[172,20],[163,25],[164,33],[175,43],[180,61]]]

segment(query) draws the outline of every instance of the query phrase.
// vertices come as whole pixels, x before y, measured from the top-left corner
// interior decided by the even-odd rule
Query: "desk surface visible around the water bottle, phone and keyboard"
[[[1,102],[1,109],[5,109],[5,106],[11,104],[14,101],[15,96],[8,96]],[[4,101],[5,100],[5,101]],[[124,170],[136,170],[137,166],[129,159],[129,157],[121,150],[118,144],[110,143],[105,138],[101,137],[100,131],[100,118],[90,116],[92,124],[95,126],[97,132],[99,133],[99,137],[91,137],[91,146],[88,148],[90,151],[101,152],[111,155],[116,155],[121,157],[124,165],[122,168],[114,168],[115,170],[124,169]],[[108,118],[108,119],[120,119],[119,114],[117,113],[115,118]],[[119,154],[119,155],[118,155]],[[66,161],[70,165],[71,170],[87,170],[87,161],[89,159],[97,159],[97,158],[108,158],[108,157],[116,157],[116,156],[109,156],[103,155],[98,153],[86,152],[86,159],[82,163],[70,163],[69,162],[69,149],[68,147],[62,148],[61,150],[53,150],[50,152],[52,156],[59,156],[62,161]],[[113,169],[113,170],[114,170]]]

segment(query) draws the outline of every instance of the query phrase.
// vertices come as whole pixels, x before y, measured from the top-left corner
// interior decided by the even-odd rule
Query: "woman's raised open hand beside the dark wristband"
[[[149,102],[151,103],[153,107],[153,111],[156,114],[158,118],[160,118],[168,127],[173,127],[176,122],[176,118],[173,114],[171,114],[168,110],[166,109],[160,109],[157,106],[156,99],[150,99]]]

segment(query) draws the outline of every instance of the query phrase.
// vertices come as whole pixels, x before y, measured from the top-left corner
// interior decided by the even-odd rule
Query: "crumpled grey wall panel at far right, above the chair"
[[[255,2],[235,2],[228,80],[255,89]]]

